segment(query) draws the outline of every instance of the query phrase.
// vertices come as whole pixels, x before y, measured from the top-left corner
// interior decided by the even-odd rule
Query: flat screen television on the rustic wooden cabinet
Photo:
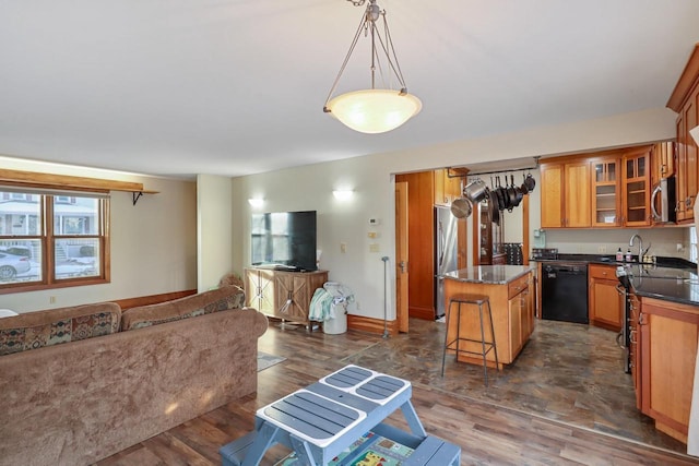
[[[296,272],[316,271],[316,211],[252,214],[251,263]]]

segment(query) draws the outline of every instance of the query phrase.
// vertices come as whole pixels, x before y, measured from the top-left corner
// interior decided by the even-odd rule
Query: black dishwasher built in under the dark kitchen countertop
[[[542,319],[589,323],[588,264],[544,263],[542,275]]]

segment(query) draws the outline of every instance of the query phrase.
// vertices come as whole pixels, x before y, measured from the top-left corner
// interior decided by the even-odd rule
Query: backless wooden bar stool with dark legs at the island
[[[457,337],[449,342],[449,321],[451,320],[451,304],[457,304]],[[477,306],[478,307],[478,320],[481,322],[481,339],[464,338],[461,336],[461,306]],[[487,304],[488,321],[490,322],[490,337],[488,342],[485,339],[485,332],[483,327],[483,306]],[[459,347],[460,342],[481,343],[482,351],[473,351],[470,349],[461,349]],[[454,347],[455,344],[455,347]],[[466,353],[470,355],[483,356],[483,373],[485,375],[485,386],[488,386],[488,367],[485,360],[488,351],[495,353],[495,367],[496,370],[499,367],[498,350],[495,344],[495,330],[493,328],[493,313],[490,312],[490,300],[485,295],[472,295],[472,294],[459,294],[449,299],[449,307],[447,308],[447,334],[445,335],[445,349],[441,356],[441,377],[445,377],[445,361],[447,359],[447,350],[453,349],[455,351],[455,358],[459,358],[459,353]]]

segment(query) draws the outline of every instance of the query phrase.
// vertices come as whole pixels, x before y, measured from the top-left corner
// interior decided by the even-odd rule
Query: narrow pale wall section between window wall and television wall
[[[221,277],[230,272],[232,189],[230,178],[214,175],[197,177],[199,292],[216,287]]]

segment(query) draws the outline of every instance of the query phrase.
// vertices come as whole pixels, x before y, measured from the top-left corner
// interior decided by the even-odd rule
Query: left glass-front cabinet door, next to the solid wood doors
[[[620,159],[592,160],[592,226],[618,227],[621,225]]]

